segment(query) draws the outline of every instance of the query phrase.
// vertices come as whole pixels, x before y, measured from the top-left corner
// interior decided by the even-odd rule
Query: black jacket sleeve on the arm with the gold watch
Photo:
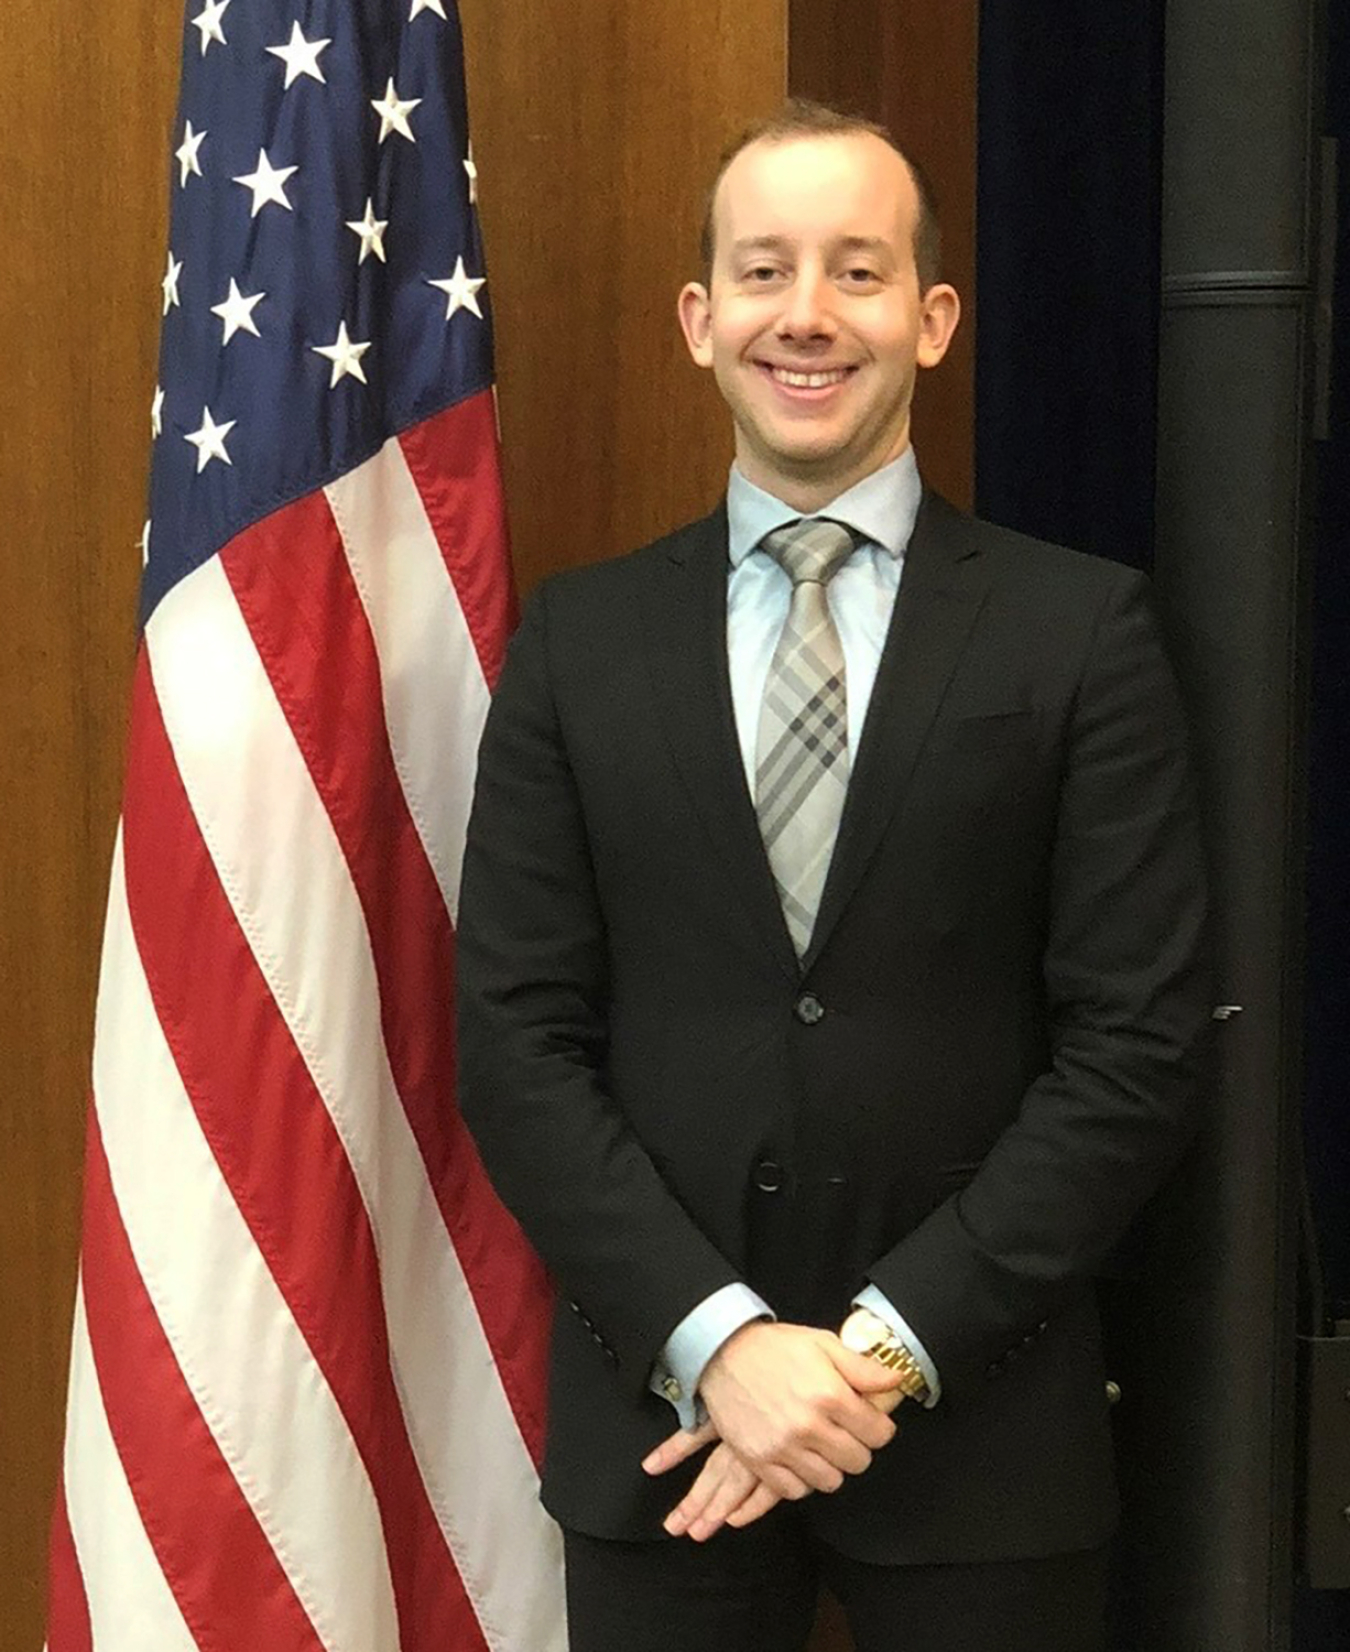
[[[1051,1059],[975,1178],[868,1270],[960,1403],[1084,1289],[1196,1123],[1211,985],[1186,732],[1120,573],[1069,714],[1051,862]]]

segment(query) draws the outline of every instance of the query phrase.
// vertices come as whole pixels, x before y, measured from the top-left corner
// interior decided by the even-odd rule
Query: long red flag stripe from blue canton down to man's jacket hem
[[[375,643],[326,499],[276,512],[223,562],[352,871],[395,1084],[537,1462],[550,1292],[454,1107],[454,937],[393,767]]]

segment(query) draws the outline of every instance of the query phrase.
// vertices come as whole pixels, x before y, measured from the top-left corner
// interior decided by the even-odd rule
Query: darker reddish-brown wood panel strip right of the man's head
[[[882,121],[932,178],[945,276],[963,316],[914,400],[924,479],[975,494],[975,121],[978,0],[790,0],[788,84]]]

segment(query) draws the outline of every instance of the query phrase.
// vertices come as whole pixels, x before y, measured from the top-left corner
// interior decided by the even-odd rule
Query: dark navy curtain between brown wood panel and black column
[[[975,497],[1147,568],[1162,3],[980,8]]]

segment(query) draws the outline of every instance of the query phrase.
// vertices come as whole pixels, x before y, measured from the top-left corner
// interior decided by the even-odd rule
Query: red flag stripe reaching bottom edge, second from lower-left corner
[[[193,1640],[203,1652],[322,1652],[164,1335],[122,1226],[96,1117],[84,1165],[83,1269],[107,1424]]]

